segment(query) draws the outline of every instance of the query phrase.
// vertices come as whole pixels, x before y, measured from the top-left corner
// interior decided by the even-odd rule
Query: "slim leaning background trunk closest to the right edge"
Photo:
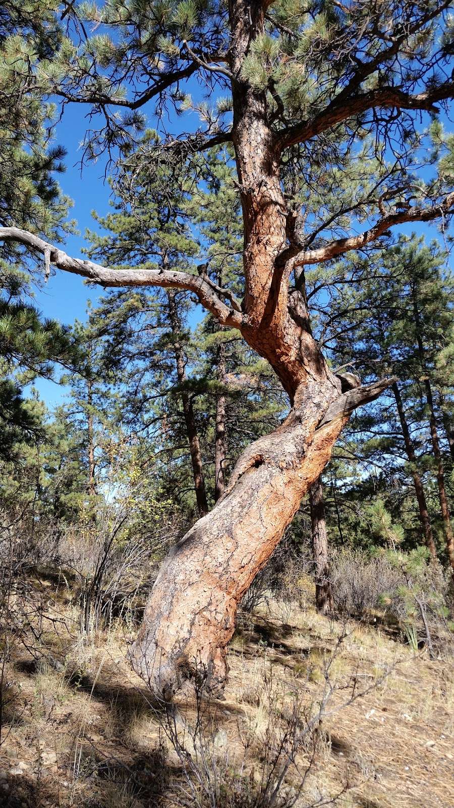
[[[444,539],[446,542],[446,549],[448,551],[449,564],[451,566],[452,577],[454,578],[454,536],[452,534],[452,524],[451,524],[451,518],[449,516],[448,497],[446,495],[446,486],[444,484],[443,460],[439,448],[439,437],[437,431],[437,423],[435,419],[434,399],[432,396],[431,381],[427,374],[426,358],[424,356],[424,346],[422,343],[422,336],[421,336],[422,333],[421,318],[419,315],[418,301],[416,298],[415,288],[413,288],[413,311],[414,311],[414,322],[416,325],[416,339],[418,343],[419,359],[421,362],[422,370],[426,371],[424,378],[424,388],[426,390],[427,405],[429,406],[429,425],[431,427],[431,442],[437,469],[439,507],[441,511],[441,517],[443,520],[443,532],[444,532]]]

